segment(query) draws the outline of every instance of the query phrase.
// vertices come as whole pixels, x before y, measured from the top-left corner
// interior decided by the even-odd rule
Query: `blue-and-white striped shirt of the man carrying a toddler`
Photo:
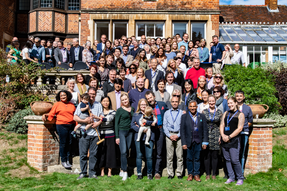
[[[102,108],[102,104],[100,104],[99,102],[94,102],[94,104],[92,105],[91,107],[91,103],[89,102],[88,103],[89,106],[90,106],[90,109],[92,111],[92,114],[96,115],[96,116],[104,116],[104,111],[103,111],[103,108]],[[74,113],[74,115],[77,115],[77,116],[80,116],[80,114],[82,113],[81,109],[80,109],[80,103]],[[99,121],[98,119],[94,119],[94,122],[97,122]],[[85,128],[86,127],[86,123],[83,123],[83,125],[81,126],[81,128]],[[86,131],[86,134],[87,135],[91,135],[91,136],[98,136],[97,134],[97,131],[96,129],[90,127],[87,131]]]

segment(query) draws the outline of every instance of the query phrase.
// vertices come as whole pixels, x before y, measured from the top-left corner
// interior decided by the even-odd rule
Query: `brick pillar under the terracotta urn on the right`
[[[253,174],[272,168],[272,119],[253,119],[245,169]]]

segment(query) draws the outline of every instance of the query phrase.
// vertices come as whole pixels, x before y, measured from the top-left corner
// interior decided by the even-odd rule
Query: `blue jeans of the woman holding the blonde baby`
[[[148,174],[152,174],[152,148],[154,147],[154,141],[149,141],[150,145],[146,145],[145,141],[141,140],[137,142],[135,140],[135,147],[137,149],[137,175],[142,175],[141,166],[143,153],[146,150],[146,166],[148,167]]]

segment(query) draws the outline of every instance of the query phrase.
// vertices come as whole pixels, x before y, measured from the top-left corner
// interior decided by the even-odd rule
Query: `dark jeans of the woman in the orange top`
[[[60,157],[61,162],[69,161],[70,145],[72,144],[71,132],[74,130],[75,124],[56,124],[57,133],[60,140]]]

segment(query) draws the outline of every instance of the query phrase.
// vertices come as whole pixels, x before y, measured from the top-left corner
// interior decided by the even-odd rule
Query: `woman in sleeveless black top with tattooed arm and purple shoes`
[[[222,152],[226,160],[226,168],[229,176],[225,184],[234,182],[235,171],[236,177],[238,178],[236,185],[242,185],[243,174],[241,164],[239,162],[239,138],[240,132],[243,129],[245,118],[244,114],[239,111],[235,97],[228,98],[227,103],[230,111],[224,112],[224,120],[222,120],[220,124],[220,143],[222,145]]]

